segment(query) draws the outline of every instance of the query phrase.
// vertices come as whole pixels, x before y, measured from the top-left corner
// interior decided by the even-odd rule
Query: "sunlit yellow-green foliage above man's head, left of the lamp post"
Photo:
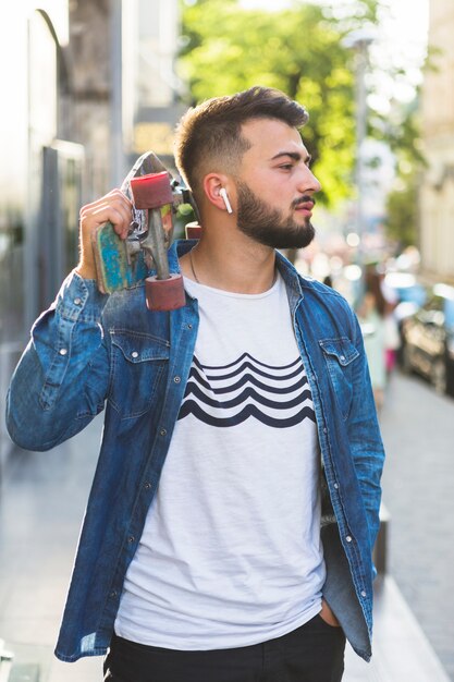
[[[182,11],[180,73],[191,103],[257,84],[304,103],[310,120],[303,138],[328,206],[351,196],[355,162],[355,78],[342,39],[355,22],[375,19],[377,3],[353,4],[342,19],[308,3],[267,12],[236,0],[196,0]]]

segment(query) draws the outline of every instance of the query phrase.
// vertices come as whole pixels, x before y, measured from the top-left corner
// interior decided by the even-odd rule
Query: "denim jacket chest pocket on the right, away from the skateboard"
[[[352,406],[353,363],[359,352],[346,337],[323,339],[319,343],[342,417],[346,419]]]

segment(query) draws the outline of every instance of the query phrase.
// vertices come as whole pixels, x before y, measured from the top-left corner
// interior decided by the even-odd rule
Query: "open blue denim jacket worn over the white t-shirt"
[[[173,244],[177,255],[193,242]],[[379,528],[383,447],[363,338],[334,290],[277,254],[316,412],[322,456],[323,596],[369,660],[371,548]],[[49,450],[106,407],[98,466],[56,648],[61,660],[106,653],[126,569],[140,539],[177,419],[198,328],[197,301],[149,312],[144,284],[110,296],[71,273],[35,322],[7,406],[12,439]],[[195,490],[195,495],[197,491]]]

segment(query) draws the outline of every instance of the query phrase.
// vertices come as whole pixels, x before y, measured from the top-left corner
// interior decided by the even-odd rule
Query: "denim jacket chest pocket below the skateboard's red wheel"
[[[110,402],[123,418],[147,412],[167,376],[170,344],[150,334],[111,331]]]

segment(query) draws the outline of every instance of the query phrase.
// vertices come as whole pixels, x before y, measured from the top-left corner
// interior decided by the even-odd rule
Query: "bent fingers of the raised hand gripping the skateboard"
[[[133,219],[132,203],[120,190],[112,190],[100,199],[81,208],[81,230],[84,234],[111,222],[121,239],[126,239]]]

